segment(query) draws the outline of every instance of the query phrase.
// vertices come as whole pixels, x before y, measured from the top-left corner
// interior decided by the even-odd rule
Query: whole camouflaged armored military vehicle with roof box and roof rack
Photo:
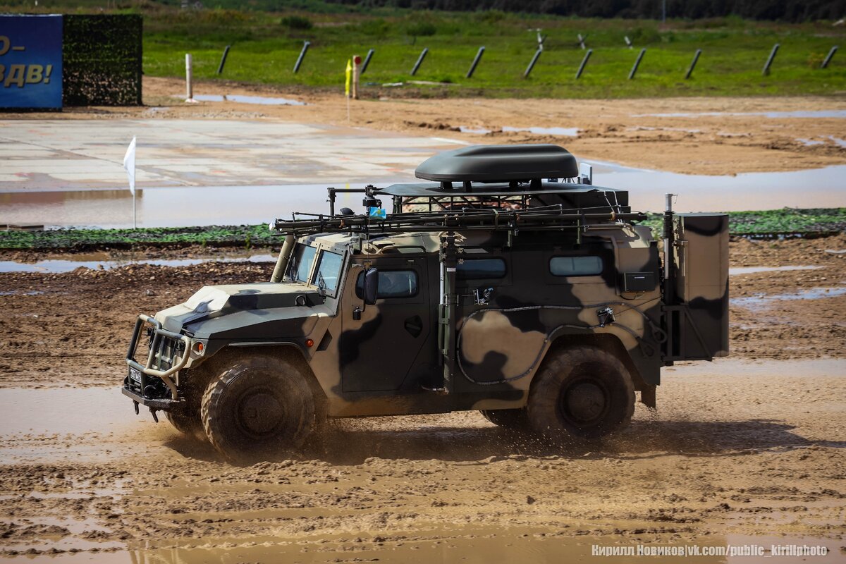
[[[464,147],[416,176],[272,222],[269,282],[140,315],[135,412],[230,458],[301,446],[327,418],[471,409],[590,440],[636,393],[655,407],[662,366],[728,354],[728,216],[667,196],[659,241],[557,145]],[[336,212],[349,192],[364,213]]]

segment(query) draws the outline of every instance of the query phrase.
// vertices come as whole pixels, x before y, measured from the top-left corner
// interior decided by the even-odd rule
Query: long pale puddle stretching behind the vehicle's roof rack
[[[846,206],[846,165],[794,172],[745,172],[697,176],[589,162],[594,183],[628,189],[632,207],[662,211],[664,194],[679,194],[677,211],[742,211],[783,207]],[[405,178],[404,181],[412,180]],[[400,180],[402,182],[402,180]],[[388,183],[376,183],[385,187]],[[327,184],[258,186],[171,186],[139,189],[140,227],[261,224],[294,211],[327,213]],[[343,184],[337,184],[343,186]],[[801,186],[802,189],[797,189]],[[336,209],[359,210],[360,194],[338,194]],[[131,227],[127,189],[0,194],[0,223],[56,226]]]

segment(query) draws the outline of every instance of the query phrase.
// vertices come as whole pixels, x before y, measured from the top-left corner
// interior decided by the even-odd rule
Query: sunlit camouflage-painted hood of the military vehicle
[[[288,319],[319,315],[314,309],[322,304],[323,298],[315,290],[301,284],[258,282],[205,286],[184,304],[162,309],[156,320],[168,331],[179,332],[187,325],[255,310],[289,308],[283,314]]]

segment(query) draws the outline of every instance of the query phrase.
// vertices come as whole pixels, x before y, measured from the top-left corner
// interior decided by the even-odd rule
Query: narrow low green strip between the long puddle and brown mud
[[[645,222],[661,233],[662,219],[651,214]],[[819,236],[846,231],[846,208],[783,209],[729,212],[729,229],[735,236]],[[169,227],[149,229],[62,229],[57,231],[0,232],[0,249],[105,249],[136,245],[209,247],[263,247],[282,239],[266,225],[235,227]]]

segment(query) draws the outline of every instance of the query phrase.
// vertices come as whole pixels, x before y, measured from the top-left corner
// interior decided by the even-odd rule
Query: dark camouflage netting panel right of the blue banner
[[[140,106],[140,15],[65,15],[64,106]]]

